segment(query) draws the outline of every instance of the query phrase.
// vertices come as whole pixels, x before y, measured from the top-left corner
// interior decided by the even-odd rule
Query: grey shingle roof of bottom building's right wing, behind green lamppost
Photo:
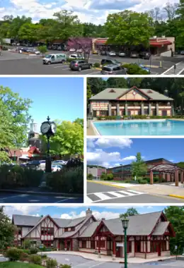
[[[148,236],[153,231],[156,221],[161,217],[162,212],[152,212],[129,217],[127,236]],[[103,221],[111,233],[123,236],[122,221],[120,219],[110,219]]]

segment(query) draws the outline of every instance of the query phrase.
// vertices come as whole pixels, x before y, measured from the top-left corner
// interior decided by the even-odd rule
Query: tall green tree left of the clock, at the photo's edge
[[[10,88],[0,86],[0,160],[6,161],[6,149],[20,147],[28,135],[31,100],[21,98]]]

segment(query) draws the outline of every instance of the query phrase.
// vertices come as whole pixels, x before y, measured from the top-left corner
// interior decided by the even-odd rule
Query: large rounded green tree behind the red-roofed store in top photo
[[[122,11],[109,14],[105,23],[108,44],[143,44],[149,46],[149,37],[154,33],[153,21],[147,13]]]

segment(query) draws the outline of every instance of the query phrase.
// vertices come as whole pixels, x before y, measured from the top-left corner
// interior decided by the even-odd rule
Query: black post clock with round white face
[[[51,164],[51,157],[50,157],[50,137],[54,136],[56,133],[56,124],[50,121],[50,117],[47,116],[47,121],[44,121],[41,125],[41,133],[47,137],[47,157],[45,162],[45,173],[52,172],[52,164]]]

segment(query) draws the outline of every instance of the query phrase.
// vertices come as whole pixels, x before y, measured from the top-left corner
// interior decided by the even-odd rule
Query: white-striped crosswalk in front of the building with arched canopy
[[[88,193],[86,201],[88,203],[96,203],[104,200],[113,200],[122,197],[132,197],[135,195],[143,195],[145,193],[138,192],[137,190],[118,190],[110,192],[100,192],[100,193]]]

